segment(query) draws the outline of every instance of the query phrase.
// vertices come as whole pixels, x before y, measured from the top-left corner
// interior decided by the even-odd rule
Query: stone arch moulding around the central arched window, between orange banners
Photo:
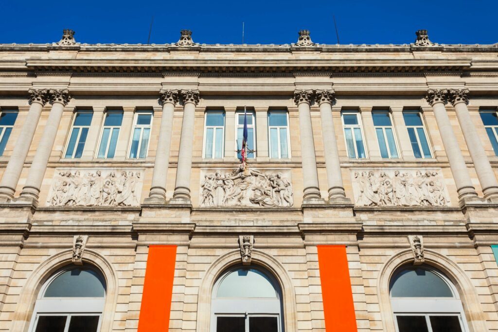
[[[297,332],[296,295],[294,286],[282,264],[271,255],[252,250],[253,264],[268,270],[282,290],[285,332]],[[211,319],[211,293],[218,277],[228,268],[241,262],[240,250],[230,251],[214,261],[206,271],[199,287],[197,301],[197,332],[209,331]]]

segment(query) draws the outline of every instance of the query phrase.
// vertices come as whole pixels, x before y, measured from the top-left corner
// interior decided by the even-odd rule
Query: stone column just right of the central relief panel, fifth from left
[[[301,163],[303,168],[303,202],[321,199],[316,169],[315,143],[311,126],[310,104],[313,90],[295,90],[294,103],[299,111],[301,134]]]

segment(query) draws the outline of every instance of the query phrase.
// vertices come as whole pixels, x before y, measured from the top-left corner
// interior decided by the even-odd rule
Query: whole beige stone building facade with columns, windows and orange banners
[[[0,331],[498,331],[497,55],[1,44]]]

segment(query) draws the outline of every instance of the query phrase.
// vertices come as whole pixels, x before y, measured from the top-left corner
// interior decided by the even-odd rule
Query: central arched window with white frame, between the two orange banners
[[[278,282],[256,266],[237,266],[215,283],[212,332],[282,332],[282,295]]]

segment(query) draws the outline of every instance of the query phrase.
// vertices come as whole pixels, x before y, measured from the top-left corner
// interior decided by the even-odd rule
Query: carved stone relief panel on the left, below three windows
[[[143,169],[57,168],[47,206],[138,206]]]

